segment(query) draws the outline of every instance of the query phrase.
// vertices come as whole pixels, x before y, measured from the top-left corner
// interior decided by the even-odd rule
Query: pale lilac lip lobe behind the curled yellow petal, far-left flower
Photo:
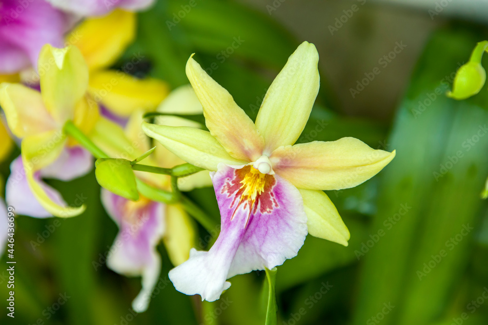
[[[41,181],[40,172],[36,172],[35,178],[41,183],[47,195],[57,204],[66,206],[61,194],[52,187]],[[49,218],[53,215],[47,212],[38,202],[30,190],[27,179],[25,178],[22,157],[17,157],[10,164],[10,176],[8,176],[5,186],[5,201],[9,206],[15,207],[16,214],[28,215],[35,218]]]

